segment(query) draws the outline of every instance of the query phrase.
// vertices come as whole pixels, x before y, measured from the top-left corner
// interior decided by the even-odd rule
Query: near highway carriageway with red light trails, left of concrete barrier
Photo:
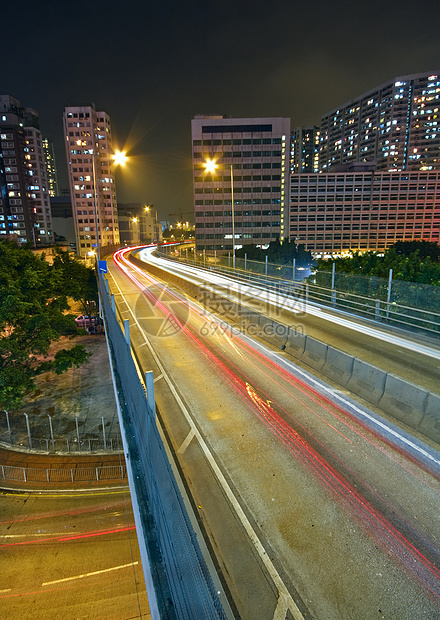
[[[439,453],[121,255],[108,277],[237,615],[440,617]]]

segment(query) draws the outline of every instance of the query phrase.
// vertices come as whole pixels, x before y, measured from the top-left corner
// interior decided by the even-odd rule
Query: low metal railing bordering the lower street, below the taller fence
[[[75,483],[93,481],[124,480],[127,478],[125,465],[107,465],[100,467],[75,467],[60,469],[40,469],[37,467],[16,467],[15,465],[1,465],[0,474],[4,481],[11,482],[39,482]]]

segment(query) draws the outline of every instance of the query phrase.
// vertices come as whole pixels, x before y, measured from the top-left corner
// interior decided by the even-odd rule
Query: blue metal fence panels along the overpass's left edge
[[[100,293],[106,333],[116,365],[116,380],[122,392],[123,420],[120,424],[129,442],[129,461],[136,485],[131,492],[137,494],[137,503],[142,506],[142,529],[148,539],[147,547],[153,553],[151,540],[155,538],[154,548],[160,551],[164,573],[155,582],[155,590],[161,592],[157,598],[168,599],[169,592],[172,601],[171,608],[169,602],[168,607],[164,607],[161,617],[226,619],[168,461],[155,410],[147,403],[145,387],[139,379],[126,332],[124,330],[124,335],[116,317],[114,298],[109,299],[108,281],[104,285],[100,279]],[[138,531],[138,535],[142,533]],[[155,572],[152,571],[153,575]]]

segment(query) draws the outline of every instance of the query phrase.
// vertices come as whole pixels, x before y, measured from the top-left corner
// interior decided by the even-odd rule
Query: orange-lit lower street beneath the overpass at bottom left
[[[2,492],[0,616],[150,618],[128,490]]]

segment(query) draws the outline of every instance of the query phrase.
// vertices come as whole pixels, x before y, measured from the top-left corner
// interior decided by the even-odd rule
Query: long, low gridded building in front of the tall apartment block
[[[291,176],[291,241],[318,257],[383,251],[396,241],[440,242],[440,171],[340,168]]]

